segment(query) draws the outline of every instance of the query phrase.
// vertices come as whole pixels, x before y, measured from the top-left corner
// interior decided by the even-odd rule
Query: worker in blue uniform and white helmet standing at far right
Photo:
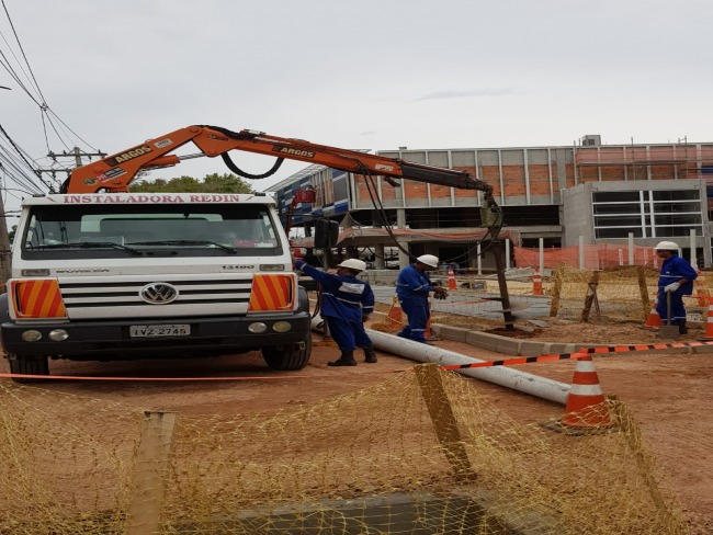
[[[670,295],[671,300],[671,325],[678,326],[678,332],[686,334],[686,307],[683,306],[683,296],[693,293],[693,281],[698,273],[688,262],[688,260],[678,255],[678,243],[675,241],[661,241],[654,248],[656,255],[664,260],[661,271],[658,276],[658,294],[656,300],[656,311],[658,316],[667,321],[668,305],[666,295]]]

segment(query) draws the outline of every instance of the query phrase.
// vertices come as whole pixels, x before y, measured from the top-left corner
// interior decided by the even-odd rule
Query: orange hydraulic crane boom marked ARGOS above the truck
[[[202,155],[199,156],[210,158],[220,156],[230,170],[244,177],[246,174],[241,173],[229,159],[227,152],[230,150],[278,157],[278,162],[270,172],[260,177],[247,175],[248,178],[269,177],[278,170],[284,158],[288,158],[358,174],[380,174],[389,179],[409,179],[462,190],[477,190],[486,194],[488,202],[493,201],[493,187],[464,171],[316,145],[302,139],[270,136],[262,132],[247,129],[231,132],[217,126],[201,125],[180,128],[103,160],[77,168],[63,184],[61,193],[127,192],[128,185],[139,171],[176,166],[185,159],[170,152],[189,141],[201,150]],[[394,185],[398,184],[394,183]]]

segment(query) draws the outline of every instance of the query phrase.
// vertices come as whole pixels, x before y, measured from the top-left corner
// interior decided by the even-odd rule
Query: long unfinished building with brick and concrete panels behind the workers
[[[502,239],[513,246],[559,248],[578,243],[654,246],[676,240],[697,265],[713,264],[713,143],[602,145],[585,136],[573,146],[377,151],[378,155],[467,171],[493,185],[502,208]],[[409,180],[395,187],[312,166],[270,187],[286,214],[295,192],[313,187],[314,204],[297,205],[293,225],[319,218],[339,221],[338,247],[397,268],[409,254],[430,253],[460,269],[493,268],[479,241],[486,234],[482,193]],[[711,193],[709,193],[711,192]],[[405,251],[408,251],[407,254]],[[478,265],[480,268],[480,265]]]

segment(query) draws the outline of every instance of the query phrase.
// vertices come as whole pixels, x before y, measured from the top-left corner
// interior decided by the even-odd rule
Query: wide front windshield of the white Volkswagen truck
[[[279,255],[268,207],[251,204],[34,206],[23,253]],[[91,243],[91,244],[90,244]]]

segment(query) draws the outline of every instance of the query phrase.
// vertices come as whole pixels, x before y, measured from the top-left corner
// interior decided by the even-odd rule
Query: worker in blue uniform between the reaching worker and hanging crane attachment
[[[426,326],[431,317],[428,296],[433,292],[437,299],[448,297],[448,292],[441,286],[431,283],[427,271],[438,268],[438,257],[423,254],[416,262],[404,268],[396,278],[396,297],[406,314],[408,325],[397,335],[414,340],[426,341]]]

